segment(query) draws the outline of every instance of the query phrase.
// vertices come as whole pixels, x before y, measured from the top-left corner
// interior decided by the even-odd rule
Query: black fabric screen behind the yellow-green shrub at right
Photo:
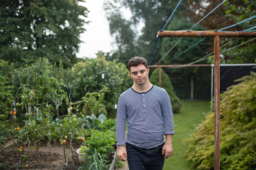
[[[256,72],[255,66],[220,66],[220,93],[227,91],[227,88],[231,85],[239,84],[240,82],[234,82],[234,80],[250,75],[251,71]],[[214,96],[214,86],[212,89],[212,93]]]

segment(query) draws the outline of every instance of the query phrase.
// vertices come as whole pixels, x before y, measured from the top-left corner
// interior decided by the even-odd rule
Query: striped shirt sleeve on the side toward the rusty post
[[[163,96],[162,114],[163,114],[164,134],[174,135],[175,132],[174,132],[172,104],[171,104],[170,97],[166,91]]]

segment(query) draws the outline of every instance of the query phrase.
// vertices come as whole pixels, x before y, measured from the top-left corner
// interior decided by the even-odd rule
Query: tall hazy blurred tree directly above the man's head
[[[119,61],[123,62],[122,59],[125,58],[125,64],[128,64],[128,59],[135,56],[144,57],[149,63],[157,45],[157,31],[166,24],[178,1],[173,0],[171,3],[169,0],[114,0],[114,3],[107,1],[105,3],[105,11],[110,22],[110,31],[111,33],[116,33],[112,35],[116,37],[116,44],[119,47],[117,51],[114,51],[113,56],[116,53],[119,54]],[[120,16],[120,8],[122,7],[130,9],[132,17],[130,20],[119,19],[123,24],[114,24],[116,20],[112,20],[112,18]],[[179,16],[180,11],[183,9],[185,9],[185,6],[181,3],[175,11],[175,15]],[[140,30],[141,35],[137,31],[137,24],[139,22],[145,23],[143,29]],[[113,27],[111,27],[112,25]],[[125,41],[128,38],[130,41]],[[162,41],[160,41],[159,46],[161,45]],[[157,59],[160,59],[159,49],[154,55],[154,60]]]

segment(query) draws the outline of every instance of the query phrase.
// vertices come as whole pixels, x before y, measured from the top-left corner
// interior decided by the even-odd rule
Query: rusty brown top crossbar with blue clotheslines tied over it
[[[256,37],[256,32],[164,31],[157,33],[157,37],[215,37],[216,35],[219,37]]]

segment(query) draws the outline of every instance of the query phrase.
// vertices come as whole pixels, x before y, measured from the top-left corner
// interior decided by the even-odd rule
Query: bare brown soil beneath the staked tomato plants
[[[63,146],[63,145],[62,145]],[[67,142],[65,144],[66,146],[66,154],[69,153],[69,143]],[[80,147],[80,144],[76,141],[74,141],[72,143],[73,146],[73,161],[74,161],[74,165],[76,166],[81,166],[80,161],[78,159],[78,154],[76,153],[76,150]],[[47,147],[47,141],[41,141],[40,142],[40,147],[39,147],[39,163],[43,163],[43,164],[49,164],[49,165],[60,165],[60,166],[64,166],[64,161],[62,159],[62,153],[63,153],[63,149],[61,148],[61,144],[60,142],[52,142],[51,143],[51,148],[52,148],[52,154],[49,152],[49,148]],[[23,146],[23,151],[20,153],[20,155],[26,153],[26,150],[28,149],[28,145]],[[10,163],[19,163],[19,159],[17,157],[17,151],[18,151],[18,146],[15,143],[15,148],[14,148],[14,153],[13,153],[13,159],[12,162],[10,162],[10,157],[12,155],[12,150],[11,147],[6,147],[5,149],[3,149],[3,157],[2,157],[2,163],[4,164],[10,164]],[[109,159],[113,159],[112,158],[111,153],[108,154]],[[28,159],[24,162],[24,164],[32,164],[32,163],[36,163],[37,160],[37,153],[36,153],[36,148],[34,148],[33,150],[30,149],[30,153],[29,153],[29,157]],[[67,159],[66,159],[67,160]],[[70,161],[67,160],[68,165],[72,165],[70,163]]]

